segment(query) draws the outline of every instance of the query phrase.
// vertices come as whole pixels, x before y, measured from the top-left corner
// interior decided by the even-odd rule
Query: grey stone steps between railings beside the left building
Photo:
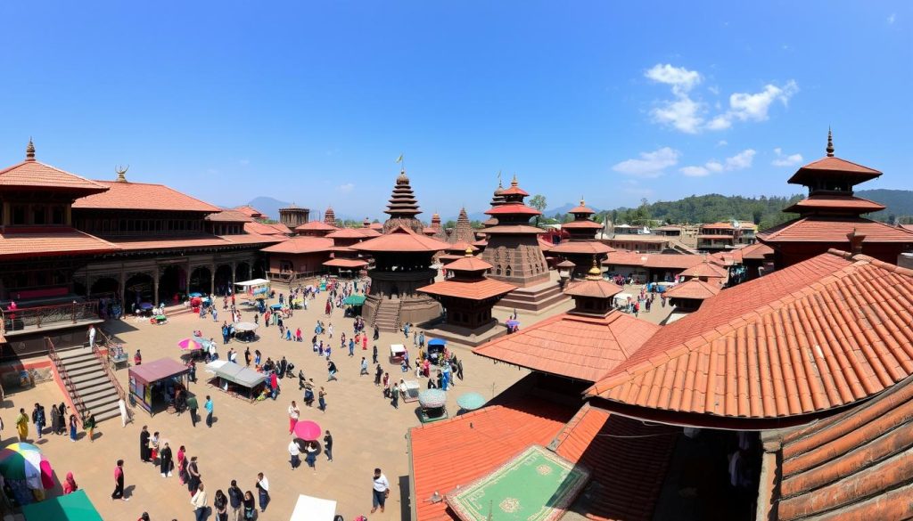
[[[95,414],[95,421],[102,422],[121,415],[117,389],[91,348],[58,350],[60,364],[67,371],[69,380],[86,406],[86,413]],[[75,402],[76,400],[74,400]]]

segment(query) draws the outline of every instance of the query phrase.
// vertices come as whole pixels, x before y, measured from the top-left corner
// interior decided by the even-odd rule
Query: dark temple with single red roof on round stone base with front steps
[[[365,320],[382,331],[397,331],[406,322],[420,324],[439,317],[441,305],[417,289],[435,281],[437,271],[428,266],[446,246],[405,226],[352,245],[355,251],[374,257],[374,267],[368,271],[371,290],[364,303]]]

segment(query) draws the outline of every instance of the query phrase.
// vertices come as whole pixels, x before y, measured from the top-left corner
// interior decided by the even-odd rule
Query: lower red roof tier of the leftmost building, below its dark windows
[[[0,258],[101,254],[121,248],[73,228],[23,228],[0,233]]]

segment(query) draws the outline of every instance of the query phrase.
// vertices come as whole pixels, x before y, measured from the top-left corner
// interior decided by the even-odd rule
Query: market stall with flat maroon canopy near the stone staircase
[[[130,400],[150,415],[168,409],[178,389],[187,389],[190,368],[174,359],[157,359],[130,368]]]

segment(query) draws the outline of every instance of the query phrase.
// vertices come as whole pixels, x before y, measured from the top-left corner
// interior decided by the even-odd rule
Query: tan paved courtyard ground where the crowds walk
[[[219,343],[219,355],[223,359],[227,349],[234,347],[239,350],[238,360],[243,363],[243,353],[247,346],[252,352],[253,349],[259,349],[264,359],[285,356],[297,369],[303,368],[308,378],[313,378],[317,385],[326,388],[329,392],[327,412],[317,410],[316,403],[313,409],[304,407],[297,379],[283,380],[283,392],[278,400],[249,403],[207,386],[206,373],[203,366],[198,365],[199,382],[191,384],[190,390],[199,397],[201,411],[205,395],[213,396],[215,424],[211,429],[207,429],[202,422],[197,423],[195,428],[192,427],[186,413],[175,416],[163,412],[150,417],[142,409],[136,408],[132,410],[134,421],[125,428],[121,427],[119,419],[102,422],[94,443],[89,443],[83,432],[80,432],[77,443],[69,442],[64,436],[46,435],[39,446],[54,466],[58,481],[68,471],[72,471],[79,486],[87,491],[105,519],[132,521],[143,511],[149,512],[153,521],[192,519],[190,494],[180,484],[176,474],[171,478],[162,478],[157,467],[140,462],[139,434],[142,425],[148,425],[150,432],[161,432],[162,440],[171,444],[175,455],[177,448],[184,445],[188,455],[198,456],[210,505],[215,490],[226,491],[231,479],[236,479],[242,490],[250,490],[256,497],[254,484],[257,473],[263,472],[270,483],[272,502],[267,512],[260,515],[261,519],[289,519],[298,495],[306,494],[336,500],[337,513],[349,520],[369,514],[373,468],[381,467],[390,480],[392,490],[386,512],[375,513],[371,518],[408,519],[409,460],[405,433],[409,427],[419,424],[415,414],[417,403],[401,401],[399,410],[394,410],[390,401],[383,399],[381,388],[374,386],[373,376],[359,376],[361,357],[366,356],[369,362],[371,360],[371,344],[367,351],[356,349],[353,358],[348,357],[347,350],[342,352],[339,349],[340,333],[345,331],[347,336],[352,335],[352,319],[342,318],[341,310],[338,309],[329,322],[334,327],[332,359],[340,370],[339,381],[326,382],[326,363],[312,352],[307,341],[313,335],[319,318],[325,323],[328,321],[323,315],[324,302],[325,294],[321,294],[311,301],[309,310],[297,310],[294,317],[286,321],[293,330],[299,327],[302,329],[306,340],[303,343],[280,340],[278,328],[261,327],[257,342],[243,344],[233,341],[228,346],[222,346],[220,327],[227,315],[221,309],[215,322],[211,318],[201,319],[193,314],[184,314],[171,318],[168,324],[162,326],[134,322],[132,318],[106,324],[106,329],[115,332],[126,342],[131,359],[136,349],[142,349],[143,360],[147,363],[163,357],[180,359],[182,351],[176,343],[179,339],[190,336],[194,329],[201,329],[206,337],[212,337]],[[221,299],[217,305],[221,308]],[[569,307],[570,303],[565,303],[538,317],[520,313],[521,327]],[[659,309],[657,306],[652,314],[642,314],[641,317],[658,321],[661,319]],[[667,309],[666,307],[663,311]],[[508,312],[496,310],[495,315],[503,320]],[[252,316],[247,313],[242,319],[250,320]],[[327,339],[326,335],[323,339]],[[417,354],[411,339],[404,342],[402,334],[382,333],[377,346],[383,368],[390,371],[392,379],[398,380],[404,376],[413,378],[414,374],[405,375],[398,366],[389,363],[386,355],[389,354],[391,343],[404,343],[410,350],[411,359],[415,359]],[[475,357],[465,348],[457,347],[456,355],[464,361],[465,380],[457,380],[456,388],[448,392],[448,409],[451,414],[456,412],[456,398],[463,392],[477,391],[491,398],[527,374],[526,370]],[[127,370],[118,370],[117,375],[123,388],[128,389]],[[425,380],[420,383],[424,389]],[[10,443],[11,438],[15,437],[14,422],[20,407],[30,412],[35,402],[41,402],[49,416],[51,403],[59,402],[62,398],[58,386],[50,382],[7,396],[3,413],[4,443]],[[319,422],[323,429],[332,432],[333,462],[328,463],[321,455],[316,473],[303,462],[297,470],[290,468],[287,408],[291,400],[298,401],[302,419]],[[34,428],[29,437],[34,441]],[[125,461],[127,495],[131,498],[129,502],[110,500],[113,467],[119,458]],[[446,462],[441,462],[441,465],[442,470],[446,469]]]

